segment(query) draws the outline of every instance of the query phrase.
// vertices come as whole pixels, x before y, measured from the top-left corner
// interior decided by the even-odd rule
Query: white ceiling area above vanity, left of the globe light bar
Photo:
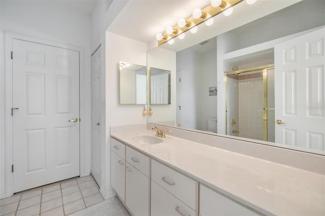
[[[208,0],[129,0],[107,30],[150,43],[156,33],[177,25],[180,18],[191,16],[193,9],[209,4]]]

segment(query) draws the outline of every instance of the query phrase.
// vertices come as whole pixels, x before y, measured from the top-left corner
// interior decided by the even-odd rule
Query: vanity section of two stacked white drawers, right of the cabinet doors
[[[151,215],[196,215],[198,182],[151,160]]]

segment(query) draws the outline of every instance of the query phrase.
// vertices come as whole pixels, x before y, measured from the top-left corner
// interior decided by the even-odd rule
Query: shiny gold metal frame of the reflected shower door
[[[268,64],[259,67],[252,67],[244,70],[236,70],[224,73],[224,88],[225,88],[225,134],[227,134],[227,122],[228,122],[228,115],[227,115],[227,76],[235,75],[235,74],[242,74],[247,72],[252,72],[256,70],[263,70],[263,95],[264,95],[264,104],[263,104],[263,140],[268,141],[268,111],[275,110],[274,108],[268,107],[268,70],[274,69],[274,64]]]

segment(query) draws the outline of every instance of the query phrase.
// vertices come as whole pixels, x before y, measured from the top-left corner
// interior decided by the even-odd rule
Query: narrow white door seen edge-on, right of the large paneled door
[[[91,174],[101,185],[101,47],[91,56]]]

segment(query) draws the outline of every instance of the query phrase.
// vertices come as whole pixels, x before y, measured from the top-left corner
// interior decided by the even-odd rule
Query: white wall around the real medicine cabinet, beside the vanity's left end
[[[113,195],[110,175],[110,130],[112,126],[146,124],[147,118],[142,115],[142,105],[119,104],[119,62],[125,61],[138,65],[147,64],[147,44],[120,35],[106,32],[106,138],[105,169],[106,197]],[[103,149],[102,149],[103,150]],[[103,163],[102,163],[103,165]]]

